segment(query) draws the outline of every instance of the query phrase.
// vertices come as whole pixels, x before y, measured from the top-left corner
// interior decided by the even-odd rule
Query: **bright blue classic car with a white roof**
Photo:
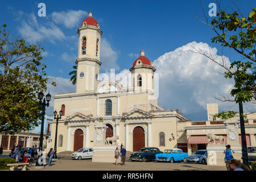
[[[174,163],[175,161],[183,160],[184,162],[187,162],[188,153],[183,152],[179,148],[171,148],[164,150],[163,154],[156,154],[155,160],[160,161],[166,161],[170,163]]]

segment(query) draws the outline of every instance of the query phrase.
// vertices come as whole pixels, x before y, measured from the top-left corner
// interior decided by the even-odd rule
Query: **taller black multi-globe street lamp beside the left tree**
[[[42,123],[41,123],[41,133],[40,133],[40,143],[39,151],[43,150],[43,137],[44,137],[44,115],[46,115],[46,106],[49,107],[49,101],[51,100],[51,94],[47,94],[46,98],[44,97],[43,92],[38,93],[39,104],[43,106],[42,108]],[[43,100],[44,99],[44,100]],[[42,102],[43,100],[43,102]],[[46,102],[47,101],[47,102]]]

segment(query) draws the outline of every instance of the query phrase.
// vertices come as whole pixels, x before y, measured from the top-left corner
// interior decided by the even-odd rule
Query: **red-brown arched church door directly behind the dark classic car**
[[[145,147],[144,129],[137,126],[133,130],[133,151],[139,151],[143,147]]]

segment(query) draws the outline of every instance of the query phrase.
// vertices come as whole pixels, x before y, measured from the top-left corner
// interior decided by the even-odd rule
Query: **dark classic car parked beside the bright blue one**
[[[163,152],[161,152],[159,148],[144,147],[144,148],[141,148],[139,152],[135,152],[134,154],[131,154],[130,160],[143,161],[143,162],[155,160],[156,154],[163,154]]]

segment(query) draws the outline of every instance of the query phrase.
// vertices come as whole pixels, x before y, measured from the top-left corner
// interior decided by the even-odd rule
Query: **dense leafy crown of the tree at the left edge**
[[[46,65],[40,46],[12,38],[0,28],[0,133],[17,133],[38,126],[42,116],[37,93],[47,89]],[[55,82],[52,82],[56,86]]]

